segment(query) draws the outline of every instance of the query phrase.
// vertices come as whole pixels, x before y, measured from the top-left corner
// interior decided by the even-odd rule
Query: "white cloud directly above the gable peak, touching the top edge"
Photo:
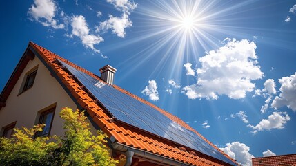
[[[35,21],[40,22],[43,26],[51,26],[55,29],[65,28],[63,24],[58,24],[57,19],[54,19],[57,12],[57,6],[53,0],[34,0],[31,8],[28,10],[28,15]]]

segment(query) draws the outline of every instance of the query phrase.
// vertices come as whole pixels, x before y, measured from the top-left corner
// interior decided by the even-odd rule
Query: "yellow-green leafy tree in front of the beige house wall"
[[[0,138],[0,165],[116,165],[106,147],[106,134],[90,132],[83,111],[64,108],[63,138],[37,137],[45,124],[14,129],[12,138]]]

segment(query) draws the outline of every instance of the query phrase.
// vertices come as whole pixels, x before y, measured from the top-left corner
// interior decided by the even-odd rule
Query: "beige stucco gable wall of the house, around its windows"
[[[26,73],[37,65],[38,70],[34,85],[31,89],[19,95],[19,89],[21,89]],[[61,136],[63,135],[63,122],[59,118],[59,111],[63,107],[77,109],[77,106],[55,77],[50,75],[50,71],[46,66],[35,56],[34,60],[28,63],[17,84],[15,84],[9,98],[6,100],[6,107],[2,107],[0,110],[0,129],[14,121],[17,121],[17,128],[22,126],[30,128],[38,122],[38,111],[55,103],[56,111],[50,134]]]

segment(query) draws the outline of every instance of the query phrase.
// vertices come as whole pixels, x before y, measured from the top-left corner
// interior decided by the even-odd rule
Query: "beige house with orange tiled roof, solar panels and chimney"
[[[30,42],[0,95],[0,136],[14,127],[44,123],[39,136],[63,135],[63,107],[86,110],[93,130],[125,165],[237,165],[186,122],[113,84],[112,66],[101,77]]]

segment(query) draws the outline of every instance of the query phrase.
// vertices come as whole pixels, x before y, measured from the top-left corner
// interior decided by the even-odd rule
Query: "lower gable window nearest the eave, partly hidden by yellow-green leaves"
[[[46,124],[46,126],[43,128],[42,132],[38,132],[36,134],[36,137],[50,135],[50,129],[52,126],[52,121],[54,116],[55,116],[55,107],[52,109],[48,109],[47,111],[41,112],[38,124]]]

